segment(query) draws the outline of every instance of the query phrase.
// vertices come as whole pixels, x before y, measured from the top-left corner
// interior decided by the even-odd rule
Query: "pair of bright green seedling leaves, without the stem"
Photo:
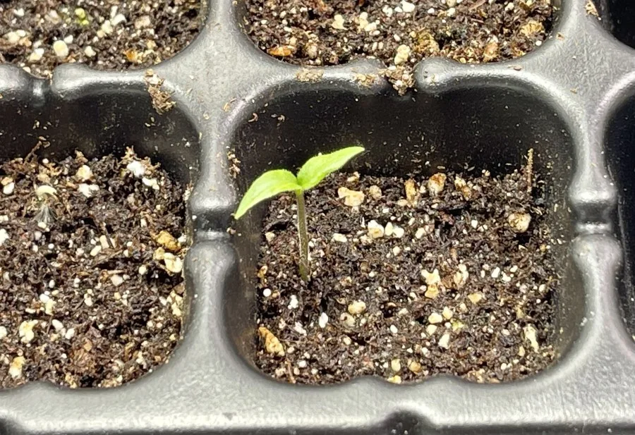
[[[294,176],[291,171],[286,169],[274,169],[263,173],[248,188],[241,203],[238,205],[236,213],[234,213],[234,218],[241,218],[255,204],[274,197],[279,193],[304,192],[314,188],[325,176],[337,171],[347,161],[363,151],[363,147],[348,147],[329,154],[319,154],[311,157],[300,168],[297,176]]]

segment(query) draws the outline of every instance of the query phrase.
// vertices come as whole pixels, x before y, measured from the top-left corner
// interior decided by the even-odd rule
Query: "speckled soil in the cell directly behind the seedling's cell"
[[[514,59],[552,27],[550,0],[246,0],[260,49],[305,66],[380,59],[399,92],[430,56],[461,63]],[[363,79],[360,79],[364,81]]]

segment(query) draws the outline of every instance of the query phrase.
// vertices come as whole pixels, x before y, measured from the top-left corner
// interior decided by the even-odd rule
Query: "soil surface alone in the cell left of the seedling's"
[[[0,182],[1,386],[117,386],[167,362],[186,188],[131,151],[16,159]]]

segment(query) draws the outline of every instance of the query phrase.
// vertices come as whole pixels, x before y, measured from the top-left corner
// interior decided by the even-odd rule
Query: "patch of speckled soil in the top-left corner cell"
[[[60,63],[143,68],[181,51],[201,0],[0,0],[0,63],[49,78]]]

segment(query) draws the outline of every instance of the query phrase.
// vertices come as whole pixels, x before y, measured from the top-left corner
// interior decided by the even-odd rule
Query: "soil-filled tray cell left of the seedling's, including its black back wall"
[[[187,311],[198,133],[147,92],[0,100],[0,383],[119,386]]]

